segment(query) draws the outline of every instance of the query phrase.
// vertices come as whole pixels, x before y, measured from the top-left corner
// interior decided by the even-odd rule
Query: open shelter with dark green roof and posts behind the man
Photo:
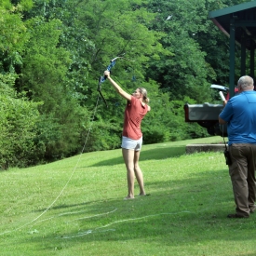
[[[240,75],[249,74],[255,78],[256,47],[256,1],[243,3],[209,12],[209,19],[229,37],[229,88],[230,97],[235,94],[235,50],[241,47]],[[249,57],[249,61],[247,61]],[[249,63],[249,67],[246,66]]]

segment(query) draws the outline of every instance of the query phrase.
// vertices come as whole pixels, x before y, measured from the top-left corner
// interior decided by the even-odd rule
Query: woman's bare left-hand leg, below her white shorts
[[[127,177],[128,177],[128,196],[127,199],[134,198],[134,150],[122,149],[123,157],[127,167]]]

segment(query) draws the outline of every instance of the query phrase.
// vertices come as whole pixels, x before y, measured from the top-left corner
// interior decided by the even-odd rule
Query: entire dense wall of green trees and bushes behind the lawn
[[[216,101],[209,85],[227,84],[227,38],[208,14],[244,2],[0,0],[1,104],[12,116],[9,123],[1,113],[2,164],[75,155],[85,141],[86,152],[118,148],[126,101],[105,82],[106,108],[97,91],[116,56],[124,58],[112,70],[115,81],[128,92],[146,88],[151,98],[152,111],[142,121],[144,143],[208,136],[206,129],[184,122],[183,105]],[[20,137],[20,162],[12,149],[22,108],[32,122],[27,141]],[[17,134],[4,140],[11,127]]]

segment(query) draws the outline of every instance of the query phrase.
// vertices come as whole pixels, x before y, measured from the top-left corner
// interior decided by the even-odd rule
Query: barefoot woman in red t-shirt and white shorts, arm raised
[[[128,178],[128,196],[124,199],[134,198],[134,175],[140,185],[140,194],[146,195],[144,190],[143,175],[139,166],[139,158],[142,145],[141,120],[144,115],[150,111],[150,106],[147,105],[147,91],[145,88],[137,88],[132,95],[128,94],[120,88],[115,81],[110,77],[109,71],[105,71],[104,75],[115,88],[115,91],[128,101],[125,110],[125,121],[122,137],[122,154],[127,167]]]

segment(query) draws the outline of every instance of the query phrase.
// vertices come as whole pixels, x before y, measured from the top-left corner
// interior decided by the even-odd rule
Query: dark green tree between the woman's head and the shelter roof
[[[170,54],[151,61],[147,75],[170,92],[170,100],[183,100],[186,95],[197,102],[208,101],[209,80],[216,74],[196,41],[196,34],[207,31],[205,1],[151,0],[148,10],[156,14],[152,29],[165,33],[160,42]]]

